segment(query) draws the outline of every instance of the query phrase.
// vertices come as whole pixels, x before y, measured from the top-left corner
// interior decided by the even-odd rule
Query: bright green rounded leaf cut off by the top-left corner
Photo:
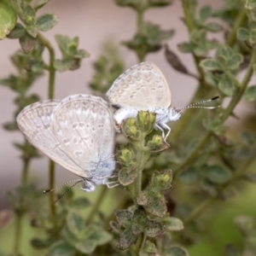
[[[0,2],[0,40],[6,38],[15,27],[17,15],[11,3],[6,0]]]

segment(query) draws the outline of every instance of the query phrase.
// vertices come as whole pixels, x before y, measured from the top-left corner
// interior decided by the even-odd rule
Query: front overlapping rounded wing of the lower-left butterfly
[[[68,96],[54,110],[54,132],[83,170],[79,176],[103,176],[96,173],[98,165],[113,157],[114,142],[113,116],[107,102],[97,96]]]

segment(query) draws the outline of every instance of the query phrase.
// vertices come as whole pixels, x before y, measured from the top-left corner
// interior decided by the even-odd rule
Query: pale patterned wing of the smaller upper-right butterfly
[[[121,74],[107,92],[113,106],[121,108],[163,108],[171,106],[171,90],[160,69],[152,62],[137,64]]]

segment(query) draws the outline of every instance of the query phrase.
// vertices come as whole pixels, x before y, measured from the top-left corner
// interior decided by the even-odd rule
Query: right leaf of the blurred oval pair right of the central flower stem
[[[205,166],[202,169],[201,174],[204,177],[207,177],[207,179],[212,183],[218,183],[218,184],[226,183],[230,181],[230,179],[232,178],[232,174],[229,170],[223,168],[222,166],[217,166],[217,165]]]

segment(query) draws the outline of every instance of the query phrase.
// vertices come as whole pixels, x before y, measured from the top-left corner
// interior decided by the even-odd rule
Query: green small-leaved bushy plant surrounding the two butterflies
[[[131,8],[137,15],[137,32],[123,45],[137,55],[138,61],[144,61],[149,53],[158,52],[164,40],[174,35],[174,30],[164,31],[144,20],[148,9],[164,8],[172,1],[114,2]],[[256,67],[254,2],[226,0],[223,8],[217,10],[210,5],[199,7],[195,0],[180,2],[189,39],[178,44],[178,49],[192,55],[197,73],[191,73],[168,46],[166,60],[177,72],[197,80],[198,88],[191,102],[219,94],[221,108],[212,113],[197,111],[191,114],[193,110],[183,113],[168,138],[170,147],[164,143],[160,131],[154,131],[154,113],[139,112],[137,118],[126,119],[121,132],[127,143],[119,143],[116,148],[119,186],[113,190],[121,200],[117,201],[114,210],[106,207],[102,212],[104,201],[114,204],[112,191],[107,188],[101,190],[96,201],[71,191],[56,204],[55,193],[49,193],[49,204],[44,204],[45,198],[41,197],[37,184],[28,179],[31,160],[39,156],[38,151],[27,141],[15,143],[23,167],[20,186],[8,194],[15,212],[12,255],[20,254],[21,224],[28,216],[32,217],[32,226],[44,234],[44,238],[34,237],[32,246],[52,256],[189,255],[190,247],[205,236],[207,217],[214,218],[212,205],[220,199],[227,201],[234,189],[242,190],[248,182],[255,183],[255,122],[251,124],[251,131],[244,127],[239,134],[233,131],[235,136],[230,132],[232,127],[225,123],[230,117],[236,118],[235,108],[242,99],[253,103],[256,100],[256,85],[251,85]],[[55,59],[55,49],[42,32],[55,26],[57,19],[52,14],[37,15],[38,9],[46,3],[47,0],[0,1],[5,14],[4,19],[0,18],[0,36],[19,38],[22,49],[11,57],[17,74],[0,80],[3,86],[16,93],[14,120],[4,124],[9,131],[17,130],[17,113],[39,100],[28,90],[43,73],[48,73],[48,96],[53,98],[55,73],[76,70],[89,56],[79,49],[78,38],[56,35],[62,58]],[[221,33],[222,40],[214,37],[216,32]],[[116,48],[105,49],[94,63],[95,75],[90,88],[96,94],[103,96],[113,80],[124,72],[124,61]],[[44,60],[44,50],[49,52],[49,61]],[[224,104],[226,98],[229,99],[227,105]],[[253,118],[255,115],[249,120]],[[50,161],[49,189],[54,187],[55,167]],[[62,189],[61,194],[66,190]],[[87,208],[89,212],[85,211]],[[203,214],[206,211],[209,213]],[[253,217],[236,216],[236,224],[245,234],[240,240],[244,247],[226,245],[221,253],[253,255],[255,211],[252,207]]]

